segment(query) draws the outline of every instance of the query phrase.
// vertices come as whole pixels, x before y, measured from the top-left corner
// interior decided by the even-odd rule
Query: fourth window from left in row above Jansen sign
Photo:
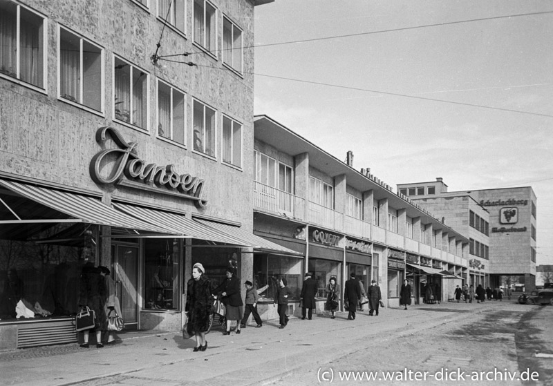
[[[185,93],[160,80],[158,136],[185,145]]]

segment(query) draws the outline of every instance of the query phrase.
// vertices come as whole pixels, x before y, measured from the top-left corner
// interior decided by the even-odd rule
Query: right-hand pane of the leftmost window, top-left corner
[[[19,44],[21,57],[19,58],[19,77],[30,84],[43,87],[43,19],[23,7],[20,8],[20,12]],[[0,27],[0,30],[3,30],[3,28]]]

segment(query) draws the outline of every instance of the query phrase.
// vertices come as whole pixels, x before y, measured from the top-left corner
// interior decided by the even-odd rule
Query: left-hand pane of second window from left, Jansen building
[[[59,32],[59,95],[73,102],[80,98],[80,41],[71,32]]]

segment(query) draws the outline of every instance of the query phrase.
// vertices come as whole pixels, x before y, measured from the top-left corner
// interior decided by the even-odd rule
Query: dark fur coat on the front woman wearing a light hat
[[[205,332],[209,329],[209,311],[213,302],[212,282],[207,276],[188,280],[185,311],[188,313],[189,332]]]

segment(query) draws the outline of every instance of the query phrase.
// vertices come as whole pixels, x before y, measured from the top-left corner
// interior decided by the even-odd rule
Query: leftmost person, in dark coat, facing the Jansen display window
[[[106,281],[100,275],[100,269],[94,267],[93,262],[86,262],[82,267],[80,277],[80,289],[78,304],[81,309],[88,307],[94,311],[94,327],[83,331],[83,343],[79,345],[88,349],[90,332],[96,333],[96,348],[104,347],[102,343],[102,331],[107,331],[108,320],[104,306],[107,300]]]

